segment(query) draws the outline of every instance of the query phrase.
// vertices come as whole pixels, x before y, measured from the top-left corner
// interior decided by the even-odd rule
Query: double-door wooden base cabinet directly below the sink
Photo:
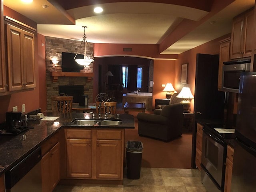
[[[123,179],[123,129],[65,129],[65,137],[67,178]]]

